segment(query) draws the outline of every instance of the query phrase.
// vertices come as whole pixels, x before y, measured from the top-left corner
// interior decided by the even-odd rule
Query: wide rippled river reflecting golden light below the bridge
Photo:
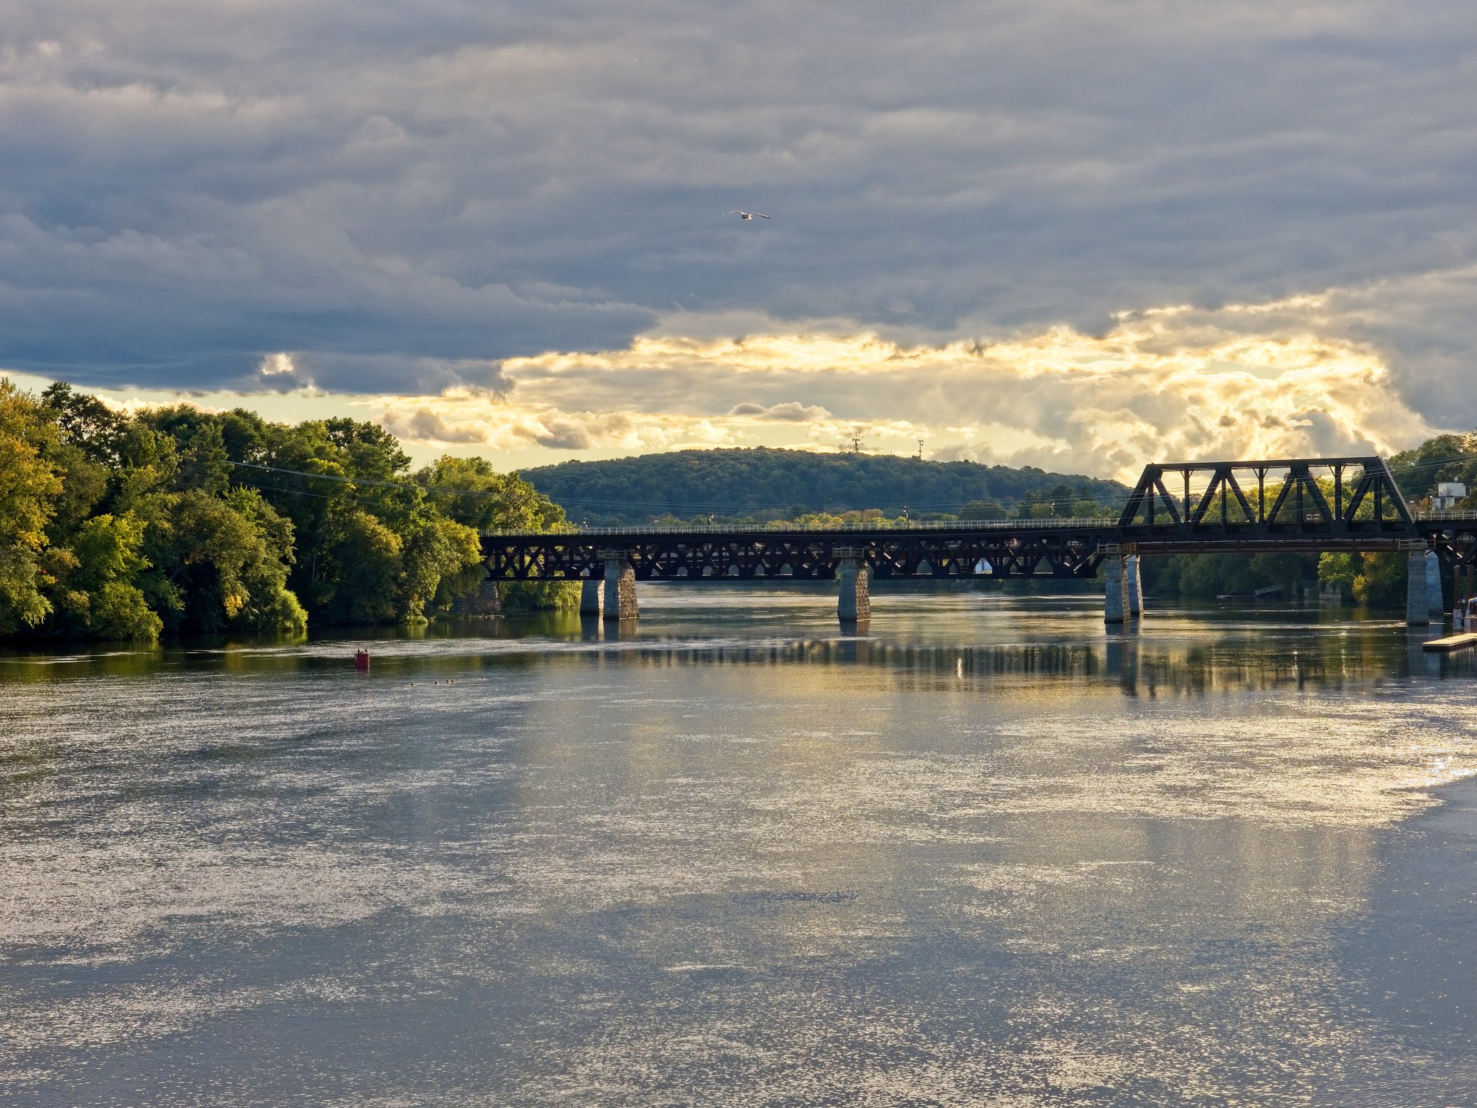
[[[835,603],[0,654],[0,1102],[1477,1104],[1477,662]]]

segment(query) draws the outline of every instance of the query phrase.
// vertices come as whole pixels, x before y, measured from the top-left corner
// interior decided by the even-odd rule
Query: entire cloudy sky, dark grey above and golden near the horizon
[[[1471,3],[9,0],[0,33],[28,384],[517,465],[861,427],[1117,474],[1477,425]]]

